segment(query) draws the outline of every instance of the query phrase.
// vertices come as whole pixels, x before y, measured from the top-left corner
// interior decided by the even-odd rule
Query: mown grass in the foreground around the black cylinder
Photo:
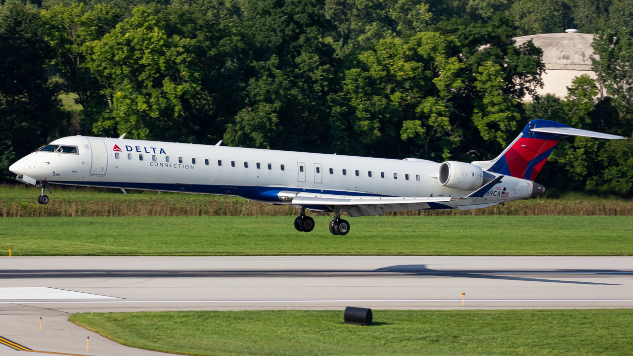
[[[70,321],[124,345],[189,355],[622,355],[633,310],[373,310],[81,313]]]

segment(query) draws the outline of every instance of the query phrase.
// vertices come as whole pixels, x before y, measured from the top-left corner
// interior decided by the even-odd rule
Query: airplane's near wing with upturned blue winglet
[[[398,212],[401,210],[450,209],[451,206],[442,205],[449,201],[466,200],[468,198],[478,198],[486,194],[493,186],[501,183],[503,175],[496,177],[491,182],[477,189],[468,196],[440,196],[437,198],[403,197],[403,196],[349,196],[339,194],[318,194],[306,192],[281,191],[279,198],[282,201],[299,206],[325,205],[337,207],[338,210],[346,211],[350,216],[382,215],[384,212]],[[432,205],[437,203],[437,205]],[[466,201],[464,203],[467,203]]]

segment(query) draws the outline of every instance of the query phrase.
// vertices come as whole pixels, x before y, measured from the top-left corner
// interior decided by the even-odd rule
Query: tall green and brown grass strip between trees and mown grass
[[[37,203],[33,186],[0,186],[0,217],[292,216],[299,210],[232,196],[163,193],[56,186],[47,205]],[[308,215],[315,215],[308,212]],[[403,210],[389,216],[550,215],[633,216],[633,200],[570,196],[525,199],[473,210]]]

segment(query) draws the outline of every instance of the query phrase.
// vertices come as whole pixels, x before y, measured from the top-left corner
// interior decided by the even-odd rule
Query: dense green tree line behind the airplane
[[[630,137],[633,0],[2,0],[0,170],[70,134],[488,160],[534,118]],[[538,96],[596,33],[598,79]],[[61,105],[72,95],[78,109]],[[523,102],[529,95],[532,101]],[[598,99],[596,99],[598,98]],[[548,188],[633,191],[631,140],[559,144]]]

